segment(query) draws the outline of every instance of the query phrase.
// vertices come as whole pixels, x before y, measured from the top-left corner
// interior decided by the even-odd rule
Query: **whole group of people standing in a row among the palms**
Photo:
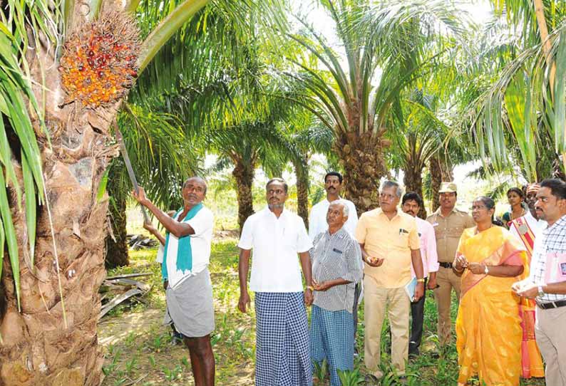
[[[312,385],[313,365],[323,360],[331,385],[341,385],[339,371],[354,367],[361,293],[366,369],[376,379],[384,376],[381,330],[387,316],[391,367],[403,377],[409,358],[419,355],[426,291],[436,299],[442,346],[451,341],[455,291],[458,385],[473,376],[488,386],[545,376],[547,385],[566,386],[565,182],[546,179],[526,192],[510,189],[505,226],[494,224],[489,197],[473,201],[471,216],[456,209],[453,182],[443,182],[440,207],[426,220],[417,217],[422,198],[403,195],[394,181],[381,184],[379,208],[358,219],[354,204],[340,196],[342,183],[338,172],[326,174],[326,198],[312,207],[309,231],[285,208],[288,186],[280,178],[267,182],[267,207],[245,221],[238,242],[238,308],[249,311],[253,291],[255,385]],[[207,270],[213,217],[202,204],[206,189],[204,179],[188,179],[184,206],[173,216],[155,207],[143,189],[133,194],[167,231],[158,236],[146,224],[163,244],[165,323],[185,341],[197,386],[214,385],[215,372]]]

